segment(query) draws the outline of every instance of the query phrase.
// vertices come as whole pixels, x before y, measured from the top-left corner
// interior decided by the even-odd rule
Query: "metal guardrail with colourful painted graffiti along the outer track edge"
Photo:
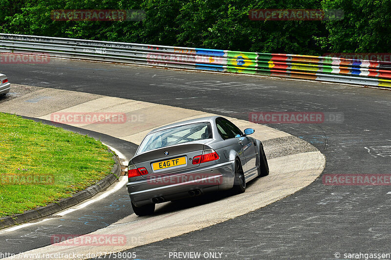
[[[0,52],[391,87],[391,62],[0,34]],[[1,55],[1,54],[0,54]],[[0,57],[1,58],[1,57]]]

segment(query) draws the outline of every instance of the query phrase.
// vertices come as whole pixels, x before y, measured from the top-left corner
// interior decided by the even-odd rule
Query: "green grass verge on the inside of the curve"
[[[0,113],[0,217],[70,197],[114,163],[93,138]]]

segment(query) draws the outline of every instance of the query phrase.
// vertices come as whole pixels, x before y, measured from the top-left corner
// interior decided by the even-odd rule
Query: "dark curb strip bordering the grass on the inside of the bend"
[[[112,153],[111,150],[110,152]],[[113,159],[115,160],[115,164],[111,170],[111,174],[106,176],[103,180],[98,181],[96,184],[89,186],[85,190],[79,191],[72,197],[61,199],[58,202],[50,203],[47,206],[27,210],[22,214],[2,217],[0,218],[0,229],[52,215],[66,208],[72,207],[84,200],[92,198],[97,193],[107,189],[121,174],[121,166],[118,158],[113,155]]]

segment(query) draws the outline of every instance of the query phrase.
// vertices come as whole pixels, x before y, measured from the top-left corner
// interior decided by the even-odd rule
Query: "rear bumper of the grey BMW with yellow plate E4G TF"
[[[135,206],[152,204],[153,198],[164,201],[190,197],[189,191],[202,193],[227,190],[233,187],[235,161],[197,168],[164,176],[155,176],[145,180],[128,182],[130,200]]]

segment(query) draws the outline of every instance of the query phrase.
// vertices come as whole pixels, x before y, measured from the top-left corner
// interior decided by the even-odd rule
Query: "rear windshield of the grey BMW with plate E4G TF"
[[[212,138],[210,123],[194,123],[181,125],[152,133],[145,137],[137,153],[159,149],[179,143]]]

